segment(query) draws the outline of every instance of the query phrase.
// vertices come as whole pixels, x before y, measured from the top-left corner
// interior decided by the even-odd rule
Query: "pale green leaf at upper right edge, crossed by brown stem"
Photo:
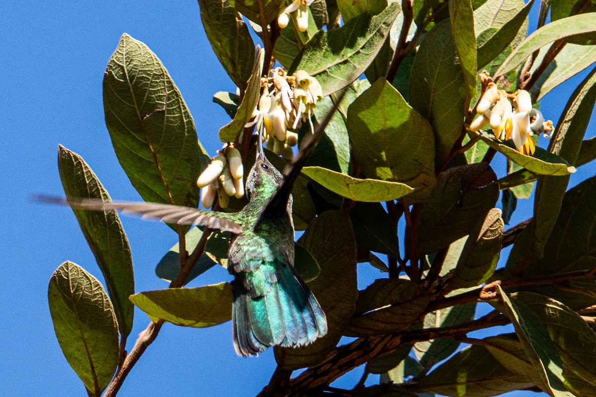
[[[535,67],[542,63],[548,49],[550,49],[550,46],[543,47],[540,50],[534,61]],[[536,98],[536,102],[540,101],[554,87],[566,82],[572,76],[589,67],[589,65],[594,64],[594,62],[596,62],[596,46],[567,44],[548,65],[547,70],[544,71],[538,82],[533,85],[532,98]],[[533,73],[534,70],[535,68],[532,68],[530,73]]]

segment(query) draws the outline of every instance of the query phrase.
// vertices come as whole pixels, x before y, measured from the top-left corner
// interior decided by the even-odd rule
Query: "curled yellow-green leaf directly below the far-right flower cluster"
[[[489,135],[486,132],[480,132],[480,139],[488,143],[491,148],[498,152],[501,152],[511,161],[521,165],[526,170],[541,175],[569,175],[575,173],[575,167],[570,166],[567,162],[550,152],[545,151],[542,148],[536,148],[533,156],[525,155],[512,148],[510,143],[499,143],[494,139],[493,135]]]

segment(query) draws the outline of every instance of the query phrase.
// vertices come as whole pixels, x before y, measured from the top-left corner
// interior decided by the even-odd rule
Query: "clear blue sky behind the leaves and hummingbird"
[[[229,120],[213,104],[212,95],[220,90],[234,92],[235,87],[210,49],[197,2],[24,1],[8,2],[2,9],[0,65],[5,77],[0,132],[5,143],[0,195],[5,211],[0,217],[4,301],[0,390],[15,396],[83,395],[82,383],[55,339],[47,304],[48,280],[66,260],[100,279],[101,273],[72,211],[33,204],[30,196],[36,192],[63,195],[57,170],[60,143],[85,158],[113,198],[139,199],[117,162],[104,124],[101,82],[122,33],[146,43],[166,65],[210,153],[219,148],[217,132]],[[531,16],[535,26],[536,12]],[[542,101],[545,117],[558,120],[581,78]],[[587,136],[593,135],[591,125]],[[504,165],[496,162],[496,167],[502,170]],[[593,166],[583,168],[572,178],[572,185],[594,174]],[[531,216],[528,204],[519,204],[512,223]],[[154,267],[176,236],[159,223],[123,218],[123,224],[131,240],[136,289],[166,287]],[[380,276],[361,266],[366,270],[361,286]],[[229,279],[224,269],[213,268],[193,285]],[[136,312],[129,349],[148,321]],[[254,395],[273,370],[271,350],[256,359],[235,355],[229,323],[207,330],[166,324],[120,395]],[[358,377],[355,374],[340,383],[351,388]]]

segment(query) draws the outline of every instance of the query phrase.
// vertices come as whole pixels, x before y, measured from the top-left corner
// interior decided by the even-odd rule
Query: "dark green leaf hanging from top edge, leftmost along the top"
[[[246,90],[253,69],[254,43],[249,28],[228,0],[198,0],[207,39],[232,82]]]

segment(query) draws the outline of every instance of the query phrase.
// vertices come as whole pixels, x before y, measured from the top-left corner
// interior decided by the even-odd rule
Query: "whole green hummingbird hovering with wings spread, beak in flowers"
[[[338,103],[343,98],[340,96]],[[234,213],[201,211],[150,202],[103,202],[98,199],[36,199],[86,210],[122,210],[166,223],[206,226],[232,233],[228,269],[233,283],[232,334],[238,355],[251,356],[271,346],[308,345],[327,334],[327,318],[294,269],[291,188],[333,112],[303,140],[285,175],[267,160],[261,136],[256,161],[246,180],[248,204]]]

